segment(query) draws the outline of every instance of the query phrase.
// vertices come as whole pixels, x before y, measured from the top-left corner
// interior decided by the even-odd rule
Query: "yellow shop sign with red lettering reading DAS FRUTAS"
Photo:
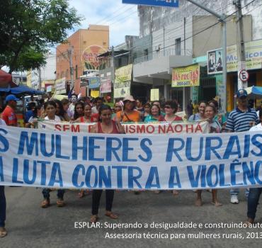
[[[199,86],[199,79],[199,64],[174,68],[172,72],[172,87]]]

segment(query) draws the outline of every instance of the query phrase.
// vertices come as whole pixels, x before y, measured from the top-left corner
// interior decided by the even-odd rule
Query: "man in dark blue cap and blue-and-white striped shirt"
[[[253,108],[249,108],[249,101],[245,89],[239,89],[236,96],[237,108],[229,113],[225,129],[227,132],[249,131],[253,125],[257,125],[259,123],[258,115],[256,115],[256,111]],[[239,200],[237,196],[239,194],[239,188],[231,189],[230,194],[230,202],[233,204],[238,204]],[[246,190],[246,196],[248,196],[248,194],[249,191]]]

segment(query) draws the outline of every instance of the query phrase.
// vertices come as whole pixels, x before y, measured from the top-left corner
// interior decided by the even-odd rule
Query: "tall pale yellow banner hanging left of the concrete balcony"
[[[130,95],[132,79],[132,64],[115,70],[114,98],[124,98]]]

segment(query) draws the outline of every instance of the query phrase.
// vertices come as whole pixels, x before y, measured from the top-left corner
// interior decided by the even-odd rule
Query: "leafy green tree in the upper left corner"
[[[48,47],[81,21],[67,0],[1,1],[0,16],[0,68],[9,73],[44,65]]]

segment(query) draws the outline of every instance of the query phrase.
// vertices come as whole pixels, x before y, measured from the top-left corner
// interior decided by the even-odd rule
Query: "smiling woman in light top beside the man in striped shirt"
[[[207,118],[210,121],[210,133],[221,133],[222,127],[220,123],[217,120],[215,120],[215,115],[217,114],[217,108],[215,108],[215,106],[213,105],[207,104],[207,106],[205,106],[204,113],[205,113],[205,118]],[[195,205],[198,207],[203,204],[201,193],[202,193],[201,190],[197,191],[197,199],[195,201]],[[217,200],[217,189],[212,189],[211,204],[215,205],[216,207],[222,206],[222,203],[220,203]]]

